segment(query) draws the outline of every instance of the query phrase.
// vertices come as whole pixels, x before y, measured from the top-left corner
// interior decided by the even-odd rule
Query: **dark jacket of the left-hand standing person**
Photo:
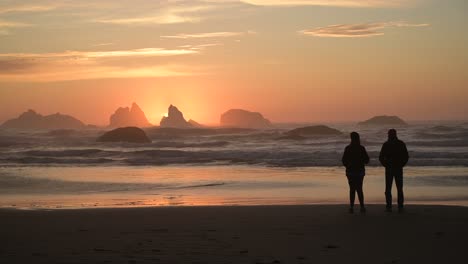
[[[366,148],[358,144],[350,144],[346,146],[343,158],[341,159],[348,173],[364,173],[366,171],[364,165],[369,163],[369,155]]]

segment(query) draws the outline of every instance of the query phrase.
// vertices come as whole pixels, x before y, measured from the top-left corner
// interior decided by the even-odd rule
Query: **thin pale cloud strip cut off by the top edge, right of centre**
[[[259,6],[336,6],[336,7],[399,7],[418,0],[242,0]]]

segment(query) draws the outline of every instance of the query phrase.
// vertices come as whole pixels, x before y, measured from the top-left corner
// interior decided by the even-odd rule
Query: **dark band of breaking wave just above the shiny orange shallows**
[[[279,167],[341,166],[342,152],[307,148],[258,149],[135,149],[135,150],[30,150],[0,153],[1,163],[18,164],[264,164]],[[369,151],[370,166],[378,166],[379,151]],[[409,165],[468,166],[468,152],[410,151]]]

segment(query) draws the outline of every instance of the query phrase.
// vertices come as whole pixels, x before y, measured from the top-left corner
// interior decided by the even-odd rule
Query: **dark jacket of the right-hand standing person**
[[[380,163],[386,168],[403,168],[408,159],[406,144],[399,139],[385,142],[379,155]]]

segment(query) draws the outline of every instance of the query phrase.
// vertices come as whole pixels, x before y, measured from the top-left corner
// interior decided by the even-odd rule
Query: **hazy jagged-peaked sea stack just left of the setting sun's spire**
[[[150,127],[152,126],[141,108],[133,103],[131,108],[119,107],[110,117],[109,127]]]

